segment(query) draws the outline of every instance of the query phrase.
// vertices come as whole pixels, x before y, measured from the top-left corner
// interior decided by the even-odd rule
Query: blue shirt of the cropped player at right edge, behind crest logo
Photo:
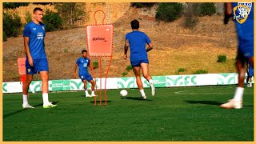
[[[232,2],[232,8],[233,19],[237,29],[238,49],[248,50],[254,48],[254,2]]]

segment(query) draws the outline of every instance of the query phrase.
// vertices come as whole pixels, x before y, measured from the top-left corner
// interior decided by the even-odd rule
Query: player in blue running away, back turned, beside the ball
[[[130,22],[132,32],[126,34],[125,42],[125,54],[124,58],[127,58],[127,51],[130,46],[130,64],[133,67],[134,75],[136,78],[138,89],[141,93],[142,99],[146,99],[146,94],[143,90],[140,71],[142,70],[143,77],[150,83],[151,94],[154,96],[155,89],[152,77],[149,74],[149,60],[147,58],[148,51],[153,49],[153,45],[150,38],[143,32],[139,31],[139,22],[134,19]],[[149,47],[146,49],[146,45]]]

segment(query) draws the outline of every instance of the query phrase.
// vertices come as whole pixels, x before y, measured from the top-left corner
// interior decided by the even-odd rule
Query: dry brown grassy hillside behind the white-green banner
[[[138,18],[140,30],[148,34],[154,50],[148,55],[151,75],[178,74],[179,68],[186,69],[179,74],[193,74],[195,70],[208,70],[208,73],[235,72],[236,34],[234,22],[224,26],[221,15],[199,18],[193,30],[184,29],[185,18],[166,23],[157,22],[154,17],[142,14],[131,8],[114,22],[114,57],[109,77],[122,77],[129,59],[124,60],[124,36],[130,32],[130,21]],[[80,52],[86,48],[85,27],[73,30],[60,30],[46,34],[46,54],[50,65],[50,79],[73,78],[73,67]],[[3,42],[3,82],[18,81],[17,58],[24,56],[23,38],[8,38]],[[227,61],[218,63],[219,54],[226,54]],[[97,58],[92,58],[97,61]],[[102,58],[102,68],[106,71],[108,58]],[[98,69],[96,69],[96,73]],[[126,76],[133,76],[130,71]],[[35,75],[34,79],[38,79]]]

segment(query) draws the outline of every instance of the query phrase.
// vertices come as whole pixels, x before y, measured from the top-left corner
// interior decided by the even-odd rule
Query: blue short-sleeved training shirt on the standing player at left
[[[44,38],[46,36],[46,26],[42,23],[35,24],[30,22],[26,24],[23,37],[29,37],[30,54],[33,59],[46,58]]]

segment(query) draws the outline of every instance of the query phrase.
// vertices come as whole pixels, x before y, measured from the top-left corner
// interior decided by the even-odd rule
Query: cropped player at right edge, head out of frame
[[[222,104],[221,107],[241,109],[246,62],[249,61],[251,66],[254,66],[254,2],[225,3],[224,24],[227,24],[230,18],[235,22],[238,38],[238,54],[235,62],[238,86],[234,92],[234,98]]]

